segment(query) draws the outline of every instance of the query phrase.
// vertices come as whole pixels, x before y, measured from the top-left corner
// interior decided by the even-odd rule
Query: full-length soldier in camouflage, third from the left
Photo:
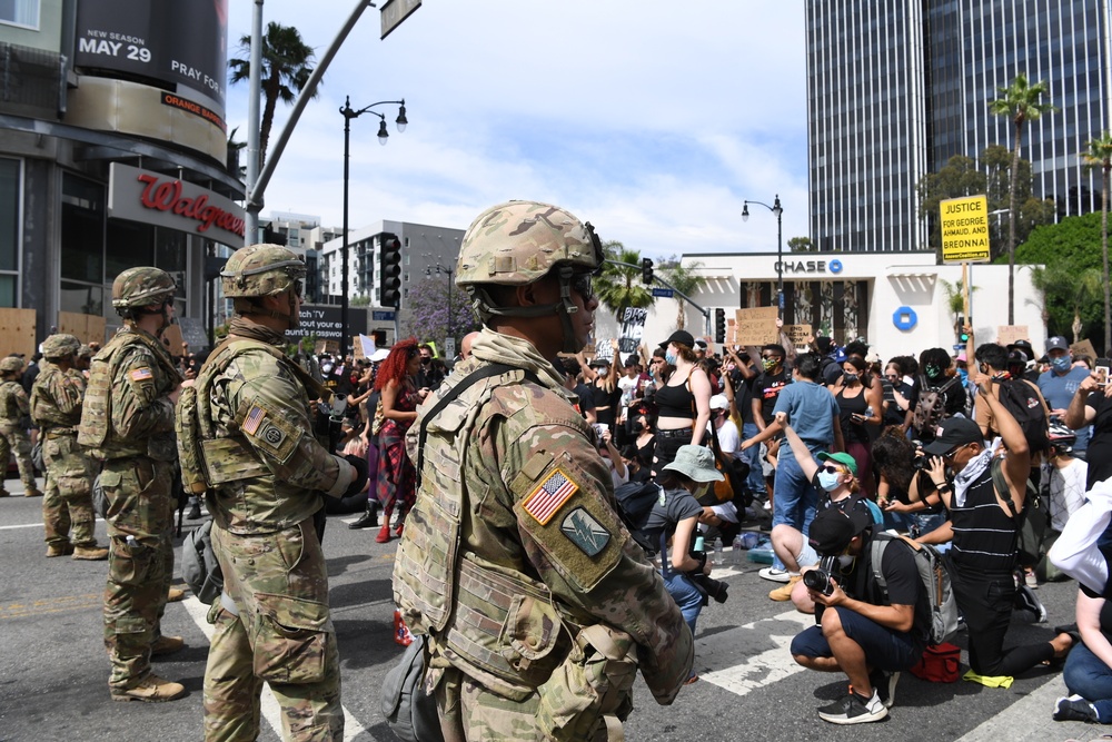
[[[170,325],[175,288],[158,268],[129,268],[116,277],[112,306],[123,328],[92,359],[78,433],[78,442],[103,462],[111,540],[105,646],[115,701],[170,701],[186,690],[150,671],[152,654],[183,645],[180,636],[159,632],[173,568],[173,403],[181,385],[159,335]]]

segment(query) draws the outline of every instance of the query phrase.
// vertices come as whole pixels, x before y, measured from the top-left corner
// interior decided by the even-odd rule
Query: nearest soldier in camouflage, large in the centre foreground
[[[534,201],[464,237],[456,283],[485,327],[409,431],[417,502],[394,568],[448,742],[615,739],[638,666],[662,704],[691,674],[691,631],[553,365],[589,336],[602,260],[589,225]]]

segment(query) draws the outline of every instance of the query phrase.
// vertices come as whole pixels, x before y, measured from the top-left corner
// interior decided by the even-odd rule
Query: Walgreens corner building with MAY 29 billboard
[[[0,2],[0,355],[53,327],[103,342],[137,265],[207,344],[206,273],[244,244],[227,46],[227,0]]]

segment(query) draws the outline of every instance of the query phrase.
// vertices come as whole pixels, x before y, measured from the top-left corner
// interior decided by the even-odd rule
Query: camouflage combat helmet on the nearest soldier
[[[589,224],[538,201],[508,201],[478,216],[464,235],[456,285],[520,286],[548,275],[554,266],[594,271],[603,248]]]

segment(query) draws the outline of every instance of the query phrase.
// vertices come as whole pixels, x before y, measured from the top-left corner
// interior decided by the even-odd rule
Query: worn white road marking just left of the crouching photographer
[[[771,685],[790,675],[794,675],[797,672],[803,672],[806,667],[792,659],[788,646],[795,634],[806,626],[813,625],[815,617],[813,615],[792,610],[771,619],[762,619],[761,621],[738,626],[737,629],[744,631],[753,631],[758,624],[768,624],[772,622],[790,624],[790,631],[786,633],[777,632],[773,626],[763,625],[758,630],[761,640],[771,641],[775,646],[759,654],[746,655],[745,642],[738,642],[736,637],[724,641],[722,634],[715,634],[714,646],[707,646],[713,652],[713,654],[707,655],[709,661],[716,666],[727,664],[734,660],[737,660],[737,662],[722,670],[701,672],[699,677],[731,693],[745,695],[765,685]]]

